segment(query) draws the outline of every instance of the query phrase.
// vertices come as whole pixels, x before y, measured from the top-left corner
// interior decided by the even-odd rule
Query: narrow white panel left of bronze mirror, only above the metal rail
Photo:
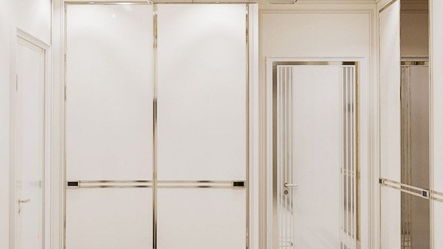
[[[380,13],[380,176],[400,181],[399,1]]]

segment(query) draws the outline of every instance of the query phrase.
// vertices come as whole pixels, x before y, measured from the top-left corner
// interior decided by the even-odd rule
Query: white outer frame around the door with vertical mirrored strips
[[[359,65],[359,154],[360,154],[360,202],[361,202],[361,248],[370,248],[370,231],[374,228],[372,223],[373,211],[377,208],[374,205],[374,179],[377,178],[377,172],[374,169],[374,150],[371,144],[372,136],[372,116],[373,109],[377,107],[374,104],[371,95],[371,69],[370,63],[366,57],[266,57],[266,110],[264,117],[266,118],[266,162],[264,163],[264,171],[266,172],[266,192],[262,193],[262,198],[266,200],[266,212],[262,215],[266,216],[266,248],[273,248],[273,64],[278,62],[356,62]]]

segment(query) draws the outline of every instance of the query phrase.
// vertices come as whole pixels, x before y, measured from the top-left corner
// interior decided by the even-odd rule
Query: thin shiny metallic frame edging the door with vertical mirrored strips
[[[273,237],[273,249],[278,249],[278,165],[277,165],[277,68],[278,66],[355,66],[355,84],[356,84],[356,172],[360,172],[359,163],[359,62],[350,61],[289,61],[289,62],[273,62],[272,63],[272,237]],[[359,174],[357,174],[359,176]],[[357,177],[356,186],[360,183],[359,177]],[[359,190],[359,188],[357,188]],[[359,201],[359,195],[357,195],[357,203]],[[358,204],[359,207],[359,204]],[[357,208],[357,214],[359,214]],[[356,228],[359,228],[359,219],[356,219]],[[359,229],[357,229],[357,238],[359,238]]]

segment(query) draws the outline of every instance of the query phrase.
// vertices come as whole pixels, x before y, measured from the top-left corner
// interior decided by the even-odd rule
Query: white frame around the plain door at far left
[[[14,249],[17,245],[17,205],[16,205],[16,162],[15,157],[15,133],[16,127],[19,124],[16,120],[17,113],[17,43],[19,39],[24,39],[26,42],[33,44],[44,50],[44,169],[43,169],[43,248],[50,248],[50,229],[51,229],[51,46],[40,39],[33,37],[20,30],[17,27],[11,29],[10,40],[10,201],[9,201],[9,248]]]

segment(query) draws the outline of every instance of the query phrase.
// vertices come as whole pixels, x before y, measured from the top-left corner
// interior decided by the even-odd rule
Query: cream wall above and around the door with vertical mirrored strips
[[[266,57],[359,57],[365,63],[361,65],[361,244],[362,248],[370,248],[370,188],[371,167],[369,163],[370,149],[370,104],[373,104],[370,93],[375,86],[376,48],[375,3],[306,3],[300,2],[292,6],[263,5],[260,6],[260,70],[261,70],[261,108],[266,109]],[[262,134],[266,134],[266,121],[262,121]],[[263,130],[264,129],[264,130]],[[264,135],[266,136],[266,135]],[[266,137],[262,137],[266,141]],[[269,148],[266,148],[269,149]],[[265,154],[262,151],[262,154]],[[262,157],[262,162],[268,162]],[[375,161],[375,160],[374,160]],[[266,163],[262,163],[262,177],[271,176]],[[374,178],[375,179],[375,178]],[[266,180],[267,181],[267,180]],[[262,179],[263,185],[266,185]],[[266,190],[262,185],[261,190]],[[268,191],[270,189],[268,188]],[[266,207],[264,201],[261,208]],[[338,214],[337,214],[338,215]],[[267,223],[271,220],[266,221]],[[271,225],[267,225],[271,227]],[[266,224],[261,223],[262,234],[266,232]],[[269,231],[268,231],[269,232]],[[269,241],[268,241],[269,242]],[[261,241],[263,245],[265,241]]]

